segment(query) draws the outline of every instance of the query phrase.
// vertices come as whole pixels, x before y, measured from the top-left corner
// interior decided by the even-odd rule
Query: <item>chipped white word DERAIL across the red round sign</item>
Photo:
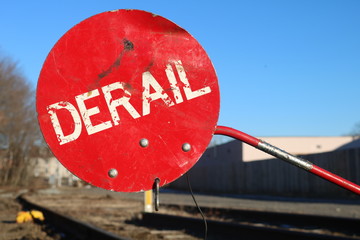
[[[174,69],[172,67],[172,64],[175,65],[177,75],[180,78],[180,82],[177,81]],[[167,64],[165,68],[165,74],[169,81],[169,85],[171,91],[173,93],[173,97],[175,100],[175,103],[172,101],[172,99],[169,97],[167,92],[164,91],[165,86],[161,86],[159,82],[154,78],[154,76],[149,72],[146,71],[142,74],[142,116],[150,114],[150,103],[156,100],[161,99],[164,104],[167,107],[174,106],[175,104],[179,104],[184,102],[184,97],[182,95],[180,86],[182,86],[182,89],[185,93],[185,99],[191,100],[200,96],[203,96],[205,94],[208,94],[211,92],[211,88],[209,86],[205,86],[198,90],[192,90],[189,80],[186,76],[185,69],[182,65],[182,62],[180,60],[173,61],[171,64]],[[79,112],[69,102],[63,102],[60,101],[58,103],[49,105],[47,107],[48,113],[50,114],[50,119],[52,122],[52,125],[54,127],[56,136],[58,138],[59,144],[63,145],[65,143],[71,142],[76,140],[82,130],[82,122],[84,122],[86,131],[88,135],[92,135],[94,133],[104,131],[106,129],[109,129],[113,126],[112,122],[114,123],[114,126],[120,124],[120,116],[117,111],[117,108],[122,106],[124,109],[134,118],[140,118],[141,115],[139,112],[134,108],[134,106],[130,103],[131,99],[131,92],[128,91],[125,88],[126,83],[124,82],[114,82],[109,85],[103,86],[101,88],[102,93],[104,94],[104,99],[107,104],[109,113],[111,115],[112,121],[105,121],[101,122],[97,125],[94,125],[91,121],[90,117],[93,115],[96,115],[100,113],[100,109],[98,106],[94,106],[92,108],[87,108],[85,101],[99,96],[99,89],[95,89],[83,94],[80,94],[78,96],[75,96],[76,103],[78,105]],[[181,84],[181,85],[180,85]],[[166,87],[167,88],[167,87]],[[115,90],[123,91],[123,95],[118,99],[113,99],[112,92]],[[158,104],[159,105],[159,104]],[[73,124],[74,130],[72,133],[68,135],[64,135],[63,129],[61,128],[60,121],[58,119],[58,114],[56,113],[57,110],[65,109],[67,110],[73,119],[73,122],[67,123],[67,124]],[[82,121],[81,121],[82,119]]]

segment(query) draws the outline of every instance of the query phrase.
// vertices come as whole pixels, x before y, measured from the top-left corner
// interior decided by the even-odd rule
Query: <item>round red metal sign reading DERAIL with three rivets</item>
[[[211,140],[219,87],[201,45],[139,10],[70,29],[43,65],[38,120],[59,161],[97,187],[151,189],[188,171]]]

